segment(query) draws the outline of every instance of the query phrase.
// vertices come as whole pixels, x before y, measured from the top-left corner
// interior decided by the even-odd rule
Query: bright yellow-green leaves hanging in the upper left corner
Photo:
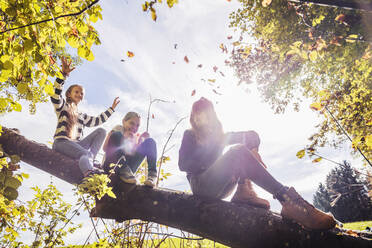
[[[79,57],[94,59],[91,47],[100,40],[92,24],[102,19],[96,2],[0,2],[0,113],[21,111],[20,99],[34,112],[35,104],[46,100],[53,92],[50,77],[61,77],[56,60],[69,55],[67,45]]]

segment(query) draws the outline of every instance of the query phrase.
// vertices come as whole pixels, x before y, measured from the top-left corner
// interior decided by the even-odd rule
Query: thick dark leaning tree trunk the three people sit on
[[[0,144],[7,154],[69,183],[82,179],[78,161],[4,128]],[[277,213],[167,189],[125,184],[112,178],[117,199],[97,200],[91,215],[124,221],[141,219],[182,229],[232,247],[372,247],[372,241],[340,229],[315,232],[285,221]],[[341,234],[341,235],[340,235]]]

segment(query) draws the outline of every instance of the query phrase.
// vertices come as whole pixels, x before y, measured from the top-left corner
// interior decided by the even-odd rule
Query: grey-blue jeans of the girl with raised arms
[[[89,159],[96,157],[105,137],[105,129],[97,128],[79,141],[56,139],[53,143],[53,150],[65,154],[70,158],[79,159],[79,168],[85,174],[88,170],[93,169],[92,162]]]

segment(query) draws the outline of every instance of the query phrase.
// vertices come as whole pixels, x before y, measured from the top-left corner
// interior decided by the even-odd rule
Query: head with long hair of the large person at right
[[[208,126],[201,128],[195,122],[196,115],[205,113],[208,118]],[[224,133],[221,122],[218,120],[213,103],[202,97],[192,105],[190,123],[196,140],[200,144],[206,144],[209,140],[220,142],[223,140]]]

